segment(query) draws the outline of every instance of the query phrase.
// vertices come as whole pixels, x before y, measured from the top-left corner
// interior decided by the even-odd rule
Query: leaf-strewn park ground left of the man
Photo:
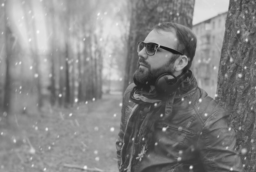
[[[0,122],[0,172],[117,172],[121,95]]]

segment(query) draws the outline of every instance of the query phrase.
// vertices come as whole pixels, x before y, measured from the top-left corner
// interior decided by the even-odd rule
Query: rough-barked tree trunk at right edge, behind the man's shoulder
[[[216,98],[231,116],[236,146],[248,172],[256,171],[255,9],[255,0],[229,2]]]

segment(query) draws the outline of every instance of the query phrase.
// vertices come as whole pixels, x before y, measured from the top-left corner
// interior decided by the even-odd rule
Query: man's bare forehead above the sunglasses
[[[154,42],[163,46],[170,46],[177,44],[176,34],[167,31],[151,31],[145,38],[144,42]]]

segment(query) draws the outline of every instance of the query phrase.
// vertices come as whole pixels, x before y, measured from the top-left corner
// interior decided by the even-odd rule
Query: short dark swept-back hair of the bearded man
[[[173,22],[159,23],[153,27],[153,30],[176,33],[177,47],[175,47],[175,49],[182,52],[188,57],[188,64],[186,65],[186,67],[184,67],[183,71],[188,70],[191,67],[193,58],[195,56],[195,49],[197,43],[197,39],[193,31],[186,26]],[[179,55],[175,55],[175,60],[178,57]]]

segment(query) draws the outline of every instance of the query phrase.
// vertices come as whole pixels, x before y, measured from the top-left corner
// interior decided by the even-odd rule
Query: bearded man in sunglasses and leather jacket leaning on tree
[[[116,142],[119,171],[243,171],[229,115],[189,70],[196,42],[191,29],[171,22],[138,42]]]

